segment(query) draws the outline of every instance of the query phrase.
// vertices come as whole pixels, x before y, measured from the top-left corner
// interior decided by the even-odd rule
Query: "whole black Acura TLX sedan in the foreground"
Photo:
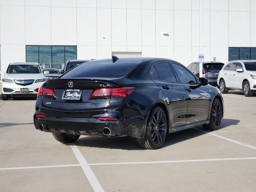
[[[38,91],[34,125],[59,142],[80,135],[132,136],[146,149],[166,134],[202,125],[218,130],[220,90],[162,58],[93,60],[48,80]]]

